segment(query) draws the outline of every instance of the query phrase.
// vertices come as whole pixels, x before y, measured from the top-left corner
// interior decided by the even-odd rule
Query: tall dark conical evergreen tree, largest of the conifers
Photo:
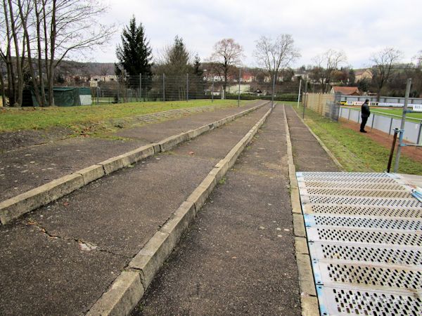
[[[135,17],[122,32],[122,45],[117,46],[116,55],[120,67],[129,76],[139,74],[151,75],[152,49],[143,29],[142,23],[136,26]]]

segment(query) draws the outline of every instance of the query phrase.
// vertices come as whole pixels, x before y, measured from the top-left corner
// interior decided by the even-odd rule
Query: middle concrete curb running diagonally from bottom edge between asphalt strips
[[[96,301],[87,315],[116,315],[114,313],[115,310],[120,311],[118,315],[129,315],[136,306],[136,303],[141,300],[143,291],[148,288],[163,263],[165,263],[168,256],[172,253],[174,247],[177,246],[181,235],[200,211],[200,208],[211,194],[217,181],[221,180],[224,174],[234,165],[239,154],[250,143],[250,140],[252,140],[258,129],[264,124],[269,114],[271,114],[271,110],[268,110],[257,121],[257,124],[231,149],[229,154],[215,165],[203,182],[196,187],[196,190],[179,206],[179,209],[172,213],[172,216],[166,221],[165,225],[155,232],[141,251],[134,256],[132,261],[129,262],[127,270],[124,270],[115,279],[110,289]],[[119,284],[122,275],[126,275],[128,272],[139,274],[141,284],[128,282],[124,287],[120,287]],[[136,287],[140,287],[141,289],[136,291]],[[128,296],[132,297],[130,293],[142,293],[142,295],[138,298],[138,301],[134,301],[127,299]],[[118,308],[115,306],[118,306]]]

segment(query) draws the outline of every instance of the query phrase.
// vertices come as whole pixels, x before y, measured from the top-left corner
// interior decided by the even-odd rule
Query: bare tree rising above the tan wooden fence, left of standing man
[[[347,62],[347,57],[343,51],[328,49],[325,53],[316,55],[314,62],[316,66],[312,68],[310,77],[321,84],[322,93],[327,93],[335,71]]]

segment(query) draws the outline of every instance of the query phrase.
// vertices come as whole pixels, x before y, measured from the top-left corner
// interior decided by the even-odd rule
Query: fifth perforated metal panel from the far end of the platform
[[[339,216],[381,216],[381,217],[403,217],[422,218],[422,209],[418,208],[384,208],[376,206],[359,205],[325,205],[306,204],[303,205],[303,212],[306,214],[332,214]]]

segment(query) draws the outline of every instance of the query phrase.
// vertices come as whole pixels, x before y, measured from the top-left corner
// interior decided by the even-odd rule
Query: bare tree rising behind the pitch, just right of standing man
[[[371,56],[372,80],[376,84],[376,99],[379,101],[381,89],[392,76],[394,65],[402,58],[402,52],[393,47],[386,47]]]

